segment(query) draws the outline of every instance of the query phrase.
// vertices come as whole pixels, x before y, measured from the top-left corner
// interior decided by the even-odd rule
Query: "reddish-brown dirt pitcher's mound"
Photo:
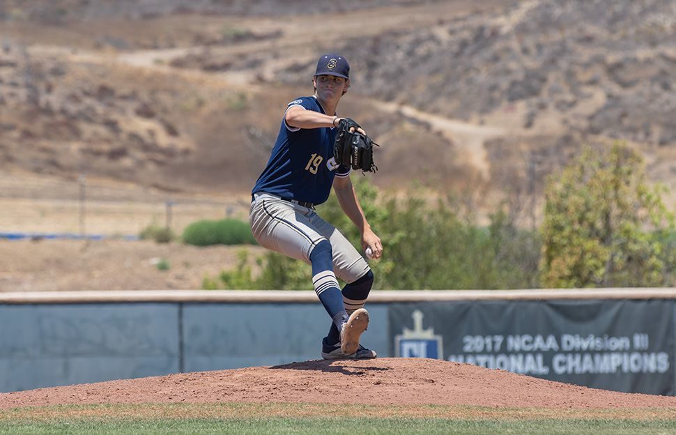
[[[676,397],[594,390],[502,370],[418,358],[318,360],[0,394],[0,409],[141,402],[676,408]]]

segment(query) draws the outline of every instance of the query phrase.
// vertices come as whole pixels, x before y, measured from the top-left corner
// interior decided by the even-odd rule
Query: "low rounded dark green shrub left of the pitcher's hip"
[[[199,220],[183,230],[183,243],[195,246],[255,245],[249,224],[236,219]]]

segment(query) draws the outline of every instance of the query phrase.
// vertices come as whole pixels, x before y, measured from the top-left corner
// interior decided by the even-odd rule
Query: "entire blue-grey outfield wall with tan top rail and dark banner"
[[[373,291],[362,344],[674,395],[676,289]],[[0,293],[0,391],[321,358],[313,291]]]

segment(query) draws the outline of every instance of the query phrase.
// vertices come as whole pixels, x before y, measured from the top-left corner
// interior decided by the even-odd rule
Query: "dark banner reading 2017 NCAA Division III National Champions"
[[[673,300],[390,305],[391,354],[624,392],[674,395]]]

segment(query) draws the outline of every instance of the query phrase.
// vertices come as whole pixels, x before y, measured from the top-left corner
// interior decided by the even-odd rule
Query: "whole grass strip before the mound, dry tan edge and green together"
[[[676,410],[137,404],[0,411],[0,434],[674,434]]]

